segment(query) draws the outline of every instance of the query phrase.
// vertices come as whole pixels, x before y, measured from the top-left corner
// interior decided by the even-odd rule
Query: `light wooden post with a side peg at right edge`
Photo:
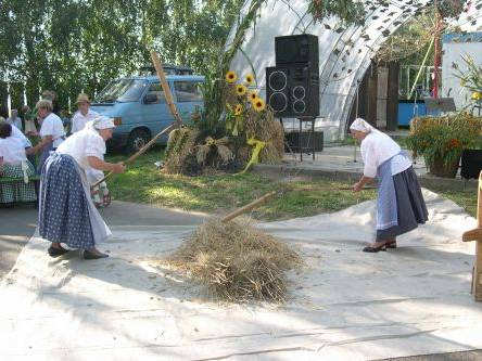
[[[472,295],[477,301],[482,301],[482,171],[479,176],[477,205],[477,228],[462,235],[464,242],[475,241],[475,261],[472,273]]]

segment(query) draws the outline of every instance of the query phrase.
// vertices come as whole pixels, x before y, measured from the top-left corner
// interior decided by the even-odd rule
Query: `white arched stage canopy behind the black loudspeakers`
[[[251,5],[248,0],[241,18]],[[363,26],[345,26],[331,17],[315,23],[308,13],[306,0],[268,0],[261,9],[254,27],[245,35],[242,51],[234,55],[231,69],[239,74],[252,73],[254,68],[258,88],[265,92],[265,68],[275,65],[275,37],[296,34],[313,34],[319,40],[320,116],[317,129],[325,131],[325,139],[342,139],[350,111],[370,61],[386,39],[429,0],[385,1],[385,7],[375,1],[364,1],[366,22]],[[459,17],[464,30],[474,30],[481,23],[482,0],[472,1]],[[227,41],[229,48],[237,23]],[[297,124],[296,124],[297,126]]]

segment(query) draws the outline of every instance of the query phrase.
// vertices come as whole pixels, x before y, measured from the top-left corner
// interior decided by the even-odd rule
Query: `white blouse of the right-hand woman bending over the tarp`
[[[372,131],[362,141],[360,151],[364,159],[364,176],[375,178],[378,167],[399,154],[402,149],[389,136],[380,131]],[[392,176],[411,167],[411,162],[404,155],[396,156],[393,160]]]

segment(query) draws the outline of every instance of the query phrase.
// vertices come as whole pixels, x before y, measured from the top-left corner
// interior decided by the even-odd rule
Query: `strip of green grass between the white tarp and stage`
[[[114,175],[109,188],[115,199],[150,204],[158,207],[179,208],[190,211],[227,214],[246,205],[270,191],[280,196],[257,208],[252,216],[261,220],[281,220],[331,212],[352,205],[375,199],[373,190],[353,193],[340,188],[351,186],[345,181],[327,179],[276,181],[265,176],[248,172],[186,177],[165,175],[156,169],[164,149],[156,147],[128,167],[123,175]],[[109,162],[124,160],[120,155],[110,155]],[[447,197],[473,217],[477,209],[477,192],[453,191],[433,188],[432,191]]]

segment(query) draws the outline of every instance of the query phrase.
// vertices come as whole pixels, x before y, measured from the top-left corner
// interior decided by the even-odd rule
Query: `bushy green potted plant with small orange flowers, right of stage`
[[[423,156],[430,173],[455,178],[462,150],[475,146],[482,118],[466,112],[442,117],[418,117],[410,124],[407,146]]]

